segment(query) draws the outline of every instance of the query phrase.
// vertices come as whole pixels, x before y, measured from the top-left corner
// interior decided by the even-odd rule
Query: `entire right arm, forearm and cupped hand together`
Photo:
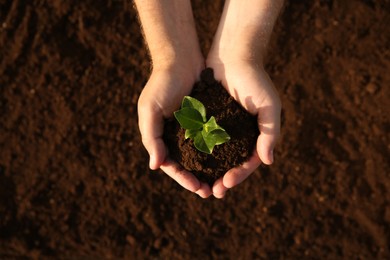
[[[249,113],[257,115],[260,135],[252,157],[218,179],[212,191],[223,198],[229,188],[245,180],[261,162],[273,162],[280,131],[280,100],[263,68],[263,58],[283,0],[225,2],[207,66],[216,80]]]

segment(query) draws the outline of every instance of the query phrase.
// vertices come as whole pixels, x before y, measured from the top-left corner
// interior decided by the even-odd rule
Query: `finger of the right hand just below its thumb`
[[[260,158],[255,151],[252,157],[242,165],[230,169],[223,177],[223,185],[230,189],[243,182],[261,164]]]

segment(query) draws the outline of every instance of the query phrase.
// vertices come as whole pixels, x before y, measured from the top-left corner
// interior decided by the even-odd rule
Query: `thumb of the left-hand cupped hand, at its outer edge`
[[[156,105],[138,105],[138,125],[142,136],[142,143],[149,153],[149,167],[152,170],[160,168],[164,162],[167,151],[162,139],[164,131],[164,118]]]

